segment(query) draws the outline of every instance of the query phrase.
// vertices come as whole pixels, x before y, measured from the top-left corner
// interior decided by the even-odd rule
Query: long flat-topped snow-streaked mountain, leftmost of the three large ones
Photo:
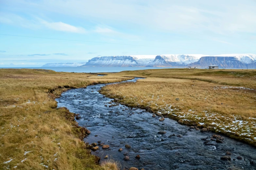
[[[144,67],[155,59],[155,55],[125,55],[94,57],[82,66],[98,67]]]

